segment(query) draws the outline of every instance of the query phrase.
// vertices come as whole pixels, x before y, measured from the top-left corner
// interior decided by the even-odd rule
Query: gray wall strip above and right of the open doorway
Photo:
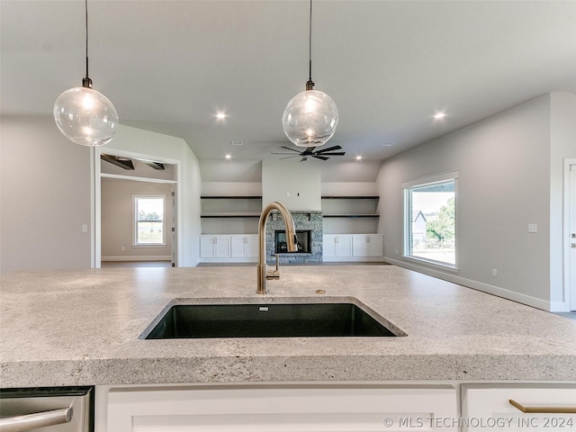
[[[200,262],[199,236],[200,194],[202,177],[200,164],[184,139],[121,125],[112,141],[106,145],[110,149],[127,152],[147,158],[156,157],[159,161],[175,163],[179,184],[177,196],[177,227],[180,241],[177,244],[178,266],[196,266]]]

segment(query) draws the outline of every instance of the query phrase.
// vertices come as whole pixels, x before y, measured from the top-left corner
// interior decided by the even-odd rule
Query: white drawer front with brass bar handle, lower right
[[[463,432],[576,430],[576,385],[464,384],[462,387]]]

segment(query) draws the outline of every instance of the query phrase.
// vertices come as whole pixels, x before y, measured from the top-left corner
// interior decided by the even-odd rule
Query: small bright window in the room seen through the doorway
[[[165,195],[134,196],[134,246],[165,246]]]

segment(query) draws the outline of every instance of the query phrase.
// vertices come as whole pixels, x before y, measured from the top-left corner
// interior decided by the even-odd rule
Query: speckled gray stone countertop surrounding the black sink
[[[4,274],[0,387],[576,380],[574,320],[396,266],[284,266],[266,296],[255,293],[256,273],[256,266],[215,266]],[[139,338],[174,299],[341,297],[365,304],[408,336]]]

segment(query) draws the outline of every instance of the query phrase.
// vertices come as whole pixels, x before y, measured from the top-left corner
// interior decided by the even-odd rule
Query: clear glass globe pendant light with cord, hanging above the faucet
[[[326,144],[338,125],[338,108],[332,98],[314,90],[312,81],[312,0],[310,1],[309,71],[306,90],[296,94],[284,108],[284,133],[299,147],[320,147]]]

